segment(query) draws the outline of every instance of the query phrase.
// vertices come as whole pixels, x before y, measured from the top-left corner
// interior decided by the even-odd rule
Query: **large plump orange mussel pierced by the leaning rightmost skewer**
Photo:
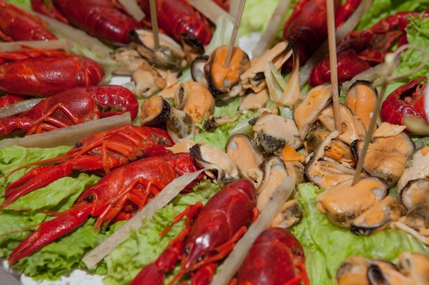
[[[380,178],[360,178],[356,183],[345,180],[317,195],[317,208],[336,226],[347,228],[388,193],[389,185]]]

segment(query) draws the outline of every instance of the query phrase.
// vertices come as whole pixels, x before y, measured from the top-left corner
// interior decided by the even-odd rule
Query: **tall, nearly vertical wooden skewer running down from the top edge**
[[[334,1],[326,0],[327,20],[328,20],[328,42],[329,42],[329,63],[331,70],[332,85],[332,107],[334,108],[334,124],[336,131],[341,134],[341,116],[338,91],[338,71],[336,63],[336,40],[335,40],[335,14]]]

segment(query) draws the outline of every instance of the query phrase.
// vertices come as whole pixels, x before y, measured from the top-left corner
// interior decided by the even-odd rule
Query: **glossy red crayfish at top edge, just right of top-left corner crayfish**
[[[114,45],[130,43],[128,32],[141,27],[114,0],[32,0],[32,9]]]

